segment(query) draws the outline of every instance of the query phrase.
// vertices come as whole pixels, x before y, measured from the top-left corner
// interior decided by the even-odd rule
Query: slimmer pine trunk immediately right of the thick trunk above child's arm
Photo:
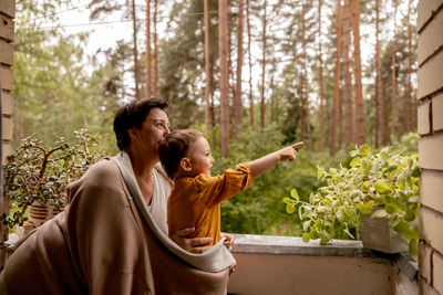
[[[234,125],[239,126],[243,122],[243,92],[241,92],[241,67],[243,67],[243,24],[244,24],[244,0],[238,1],[238,29],[237,29],[237,83],[234,96]]]

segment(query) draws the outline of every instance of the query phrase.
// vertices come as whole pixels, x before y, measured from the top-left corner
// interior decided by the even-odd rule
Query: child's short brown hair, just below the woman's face
[[[190,145],[203,136],[198,130],[183,129],[173,131],[158,141],[158,157],[171,179],[174,179],[179,162],[187,156]]]

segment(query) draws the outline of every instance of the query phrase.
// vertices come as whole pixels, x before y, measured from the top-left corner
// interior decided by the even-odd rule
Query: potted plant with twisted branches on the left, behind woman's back
[[[14,212],[3,222],[10,228],[27,225],[27,232],[61,212],[68,183],[103,156],[90,150],[97,143],[95,137],[85,129],[74,133],[76,144],[69,145],[60,137],[50,147],[35,135],[28,136],[9,157],[3,168],[3,196],[11,200]]]

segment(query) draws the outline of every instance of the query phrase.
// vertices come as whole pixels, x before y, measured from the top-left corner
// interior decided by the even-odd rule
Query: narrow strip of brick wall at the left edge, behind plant
[[[13,64],[13,18],[16,12],[16,0],[0,1],[0,94],[1,94],[1,165],[6,162],[7,156],[12,152],[12,64]],[[2,167],[1,167],[2,169]],[[0,219],[9,211],[9,200],[0,194]],[[8,239],[8,226],[0,220],[0,270],[3,268]]]

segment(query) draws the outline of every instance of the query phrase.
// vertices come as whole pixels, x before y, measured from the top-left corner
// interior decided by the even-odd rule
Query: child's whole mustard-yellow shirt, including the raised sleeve
[[[185,228],[195,228],[188,238],[213,238],[212,245],[220,240],[220,202],[236,196],[254,183],[249,164],[226,169],[223,175],[174,179],[167,202],[169,235]]]

